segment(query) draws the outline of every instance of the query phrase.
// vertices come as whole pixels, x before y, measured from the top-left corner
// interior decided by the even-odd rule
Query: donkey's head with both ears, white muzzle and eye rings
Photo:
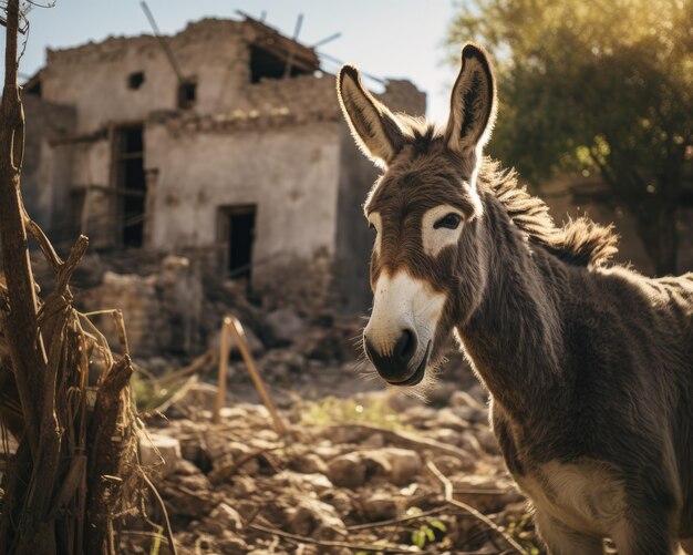
[[[465,45],[445,133],[393,114],[352,65],[339,73],[338,95],[356,143],[384,167],[364,206],[376,234],[365,352],[389,383],[416,386],[486,284],[476,177],[495,117],[492,69],[480,48]]]

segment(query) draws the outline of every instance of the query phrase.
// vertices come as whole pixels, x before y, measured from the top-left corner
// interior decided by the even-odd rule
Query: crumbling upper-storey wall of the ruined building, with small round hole
[[[246,54],[242,23],[204,20],[166,38],[184,78],[197,82],[193,110],[214,113],[229,91],[240,88],[238,71]],[[144,73],[137,89],[128,76]],[[65,50],[48,51],[43,97],[77,110],[77,132],[104,122],[137,122],[156,110],[178,109],[178,78],[154,37],[111,38]]]

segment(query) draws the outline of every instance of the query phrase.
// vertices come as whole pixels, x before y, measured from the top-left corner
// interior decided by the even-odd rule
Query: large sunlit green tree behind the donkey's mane
[[[530,178],[596,172],[676,271],[693,165],[693,0],[470,0],[447,37],[497,61],[492,155]]]

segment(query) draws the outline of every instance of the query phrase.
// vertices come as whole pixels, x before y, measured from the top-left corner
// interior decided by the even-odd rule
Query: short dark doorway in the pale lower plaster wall
[[[255,205],[221,208],[220,240],[226,244],[224,269],[231,279],[250,280],[256,212]]]

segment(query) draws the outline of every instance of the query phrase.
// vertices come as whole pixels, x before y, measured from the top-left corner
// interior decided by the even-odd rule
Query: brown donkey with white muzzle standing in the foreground
[[[431,387],[455,336],[490,393],[505,462],[551,554],[684,553],[693,536],[693,274],[616,265],[611,228],[554,224],[482,155],[496,113],[485,51],[466,44],[446,129],[393,114],[344,65],[338,96],[381,167],[368,358]],[[693,554],[693,551],[689,553]]]

